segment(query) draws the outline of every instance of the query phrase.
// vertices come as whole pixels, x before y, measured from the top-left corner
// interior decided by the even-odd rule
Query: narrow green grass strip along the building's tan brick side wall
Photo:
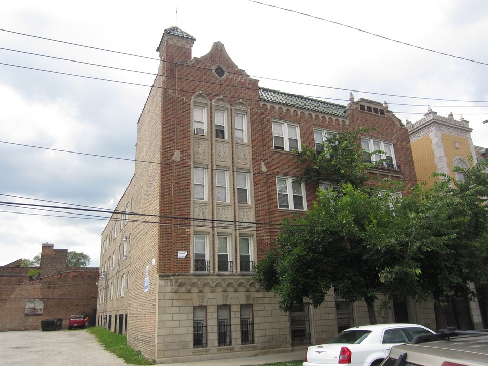
[[[153,365],[153,361],[145,358],[141,351],[136,351],[127,345],[127,335],[113,333],[110,330],[100,327],[90,327],[88,331],[95,335],[95,338],[103,347],[124,362],[135,365]]]

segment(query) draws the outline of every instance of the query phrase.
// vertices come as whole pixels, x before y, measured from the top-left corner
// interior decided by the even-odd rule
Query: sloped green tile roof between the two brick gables
[[[259,99],[264,102],[283,104],[289,107],[308,109],[314,112],[346,118],[346,107],[340,104],[325,102],[304,96],[278,92],[278,90],[259,88]]]

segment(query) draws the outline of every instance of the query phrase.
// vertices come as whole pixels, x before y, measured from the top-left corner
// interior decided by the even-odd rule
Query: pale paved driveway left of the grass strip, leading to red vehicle
[[[121,366],[86,330],[0,332],[0,364],[37,366]]]

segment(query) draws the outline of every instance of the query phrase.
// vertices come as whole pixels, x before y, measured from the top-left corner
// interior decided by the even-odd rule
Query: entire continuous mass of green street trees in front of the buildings
[[[371,323],[380,293],[432,300],[440,319],[442,301],[470,299],[470,282],[487,280],[488,163],[454,168],[464,180],[436,174],[434,185],[417,185],[403,198],[384,181],[380,195],[368,184],[372,166],[356,142],[364,131],[326,139],[319,156],[304,146],[300,180],[335,184],[318,190],[304,215],[282,222],[277,249],[258,263],[255,278],[280,295],[285,311],[304,298],[317,307],[333,289],[346,300],[363,299]]]

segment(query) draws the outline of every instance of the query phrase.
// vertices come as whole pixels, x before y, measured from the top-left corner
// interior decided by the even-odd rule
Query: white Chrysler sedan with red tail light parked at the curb
[[[429,333],[435,332],[417,324],[376,324],[346,329],[325,344],[310,346],[303,366],[378,366],[391,347]]]

